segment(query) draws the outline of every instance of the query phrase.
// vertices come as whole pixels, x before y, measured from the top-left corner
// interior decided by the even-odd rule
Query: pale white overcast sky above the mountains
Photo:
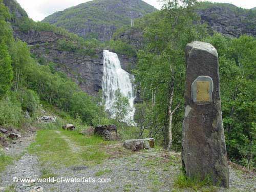
[[[56,11],[62,11],[69,7],[76,6],[91,0],[16,0],[35,21],[40,21]],[[144,2],[161,8],[159,0],[143,0]],[[251,9],[256,7],[256,0],[208,0],[210,2],[231,3],[238,7]]]

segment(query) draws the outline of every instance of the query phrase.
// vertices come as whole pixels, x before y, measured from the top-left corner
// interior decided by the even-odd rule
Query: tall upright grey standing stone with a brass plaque
[[[217,50],[205,42],[186,46],[182,164],[190,178],[210,177],[228,188],[229,170],[221,116]]]

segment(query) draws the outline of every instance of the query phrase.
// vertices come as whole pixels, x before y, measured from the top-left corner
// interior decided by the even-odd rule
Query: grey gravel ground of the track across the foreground
[[[79,146],[75,141],[60,131],[55,131],[59,138],[65,140],[74,154],[82,153],[84,146]],[[127,153],[121,150],[121,144],[104,146],[111,148],[112,155],[98,165],[72,165],[69,167],[48,167],[54,174],[54,183],[13,183],[13,178],[40,178],[42,166],[35,155],[28,154],[25,148],[33,142],[34,136],[22,138],[18,144],[12,145],[8,154],[21,156],[13,165],[7,167],[0,174],[0,191],[5,191],[6,186],[15,186],[13,191],[172,191],[174,181],[181,174],[180,153],[171,153],[160,150]],[[63,151],[63,153],[65,153]],[[73,179],[73,180],[72,180]],[[244,173],[242,170],[230,166],[230,189],[215,191],[255,191],[255,174]],[[12,191],[12,190],[9,190]],[[176,189],[175,191],[193,191],[191,189]],[[199,190],[200,191],[200,190]],[[211,191],[211,190],[207,190]]]

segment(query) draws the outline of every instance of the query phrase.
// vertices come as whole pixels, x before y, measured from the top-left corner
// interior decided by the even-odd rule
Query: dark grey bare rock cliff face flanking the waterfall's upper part
[[[56,63],[57,71],[65,72],[79,87],[89,95],[95,96],[101,89],[103,74],[103,49],[94,56],[83,55],[73,51],[63,51],[58,47],[59,39],[67,37],[47,31],[14,30],[14,36],[27,42],[31,53],[38,59]],[[130,71],[135,66],[136,58],[118,55],[124,70]]]

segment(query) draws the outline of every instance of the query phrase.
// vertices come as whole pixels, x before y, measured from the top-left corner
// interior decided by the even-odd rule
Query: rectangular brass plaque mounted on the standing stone
[[[197,81],[197,102],[209,102],[210,81]]]

